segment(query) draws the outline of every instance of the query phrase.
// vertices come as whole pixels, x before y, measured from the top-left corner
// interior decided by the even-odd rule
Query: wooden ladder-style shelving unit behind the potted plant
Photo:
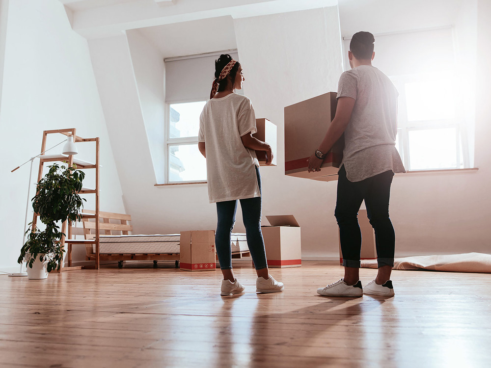
[[[37,182],[42,179],[43,177],[43,169],[44,169],[44,164],[46,162],[56,162],[56,161],[67,161],[70,165],[75,164],[77,166],[77,169],[95,169],[95,189],[94,188],[82,188],[80,191],[80,194],[95,194],[95,211],[93,211],[93,214],[83,214],[82,217],[85,218],[95,218],[95,237],[94,239],[72,239],[72,223],[70,221],[65,221],[63,222],[61,226],[61,232],[66,234],[66,238],[62,237],[61,238],[61,247],[64,247],[65,244],[67,244],[67,257],[68,257],[68,267],[63,267],[63,264],[61,264],[61,267],[58,272],[61,272],[62,270],[71,270],[71,269],[82,269],[82,268],[96,268],[99,269],[100,264],[99,264],[99,137],[96,138],[82,138],[77,136],[76,134],[76,129],[75,128],[70,128],[70,129],[58,129],[58,130],[52,130],[52,131],[44,131],[43,132],[43,142],[41,145],[41,152],[45,152],[46,150],[46,140],[48,137],[48,134],[63,134],[63,135],[72,135],[74,137],[74,142],[75,143],[82,143],[82,142],[94,142],[95,143],[95,163],[93,162],[85,162],[82,161],[78,158],[74,158],[73,155],[42,155],[40,156],[39,160],[39,171],[38,171],[38,177],[37,177]],[[37,223],[37,218],[38,214],[34,213],[33,219],[32,219],[32,229],[35,228],[36,223]],[[72,266],[71,262],[71,250],[72,250],[72,245],[74,244],[95,244],[95,252],[96,252],[96,257],[95,257],[95,265],[94,266]]]

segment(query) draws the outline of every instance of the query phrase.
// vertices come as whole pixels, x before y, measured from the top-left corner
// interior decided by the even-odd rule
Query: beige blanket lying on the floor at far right
[[[377,268],[377,260],[362,260],[361,267]],[[396,258],[393,269],[491,273],[491,254],[464,253]]]

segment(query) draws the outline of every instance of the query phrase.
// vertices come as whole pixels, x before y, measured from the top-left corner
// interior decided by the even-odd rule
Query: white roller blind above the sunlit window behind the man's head
[[[344,40],[345,69],[350,69]],[[452,28],[375,35],[373,66],[388,76],[451,71],[454,67]]]

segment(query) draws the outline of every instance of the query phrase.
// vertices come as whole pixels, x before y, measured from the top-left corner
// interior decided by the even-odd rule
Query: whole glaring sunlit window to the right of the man
[[[464,168],[466,142],[453,79],[436,74],[391,79],[400,93],[396,148],[406,169]]]

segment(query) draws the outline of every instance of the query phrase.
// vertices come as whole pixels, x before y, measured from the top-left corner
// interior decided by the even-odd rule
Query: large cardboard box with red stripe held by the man
[[[327,153],[321,171],[308,172],[312,156],[336,113],[336,93],[323,95],[285,107],[285,175],[314,180],[337,180],[343,158],[344,136]]]

